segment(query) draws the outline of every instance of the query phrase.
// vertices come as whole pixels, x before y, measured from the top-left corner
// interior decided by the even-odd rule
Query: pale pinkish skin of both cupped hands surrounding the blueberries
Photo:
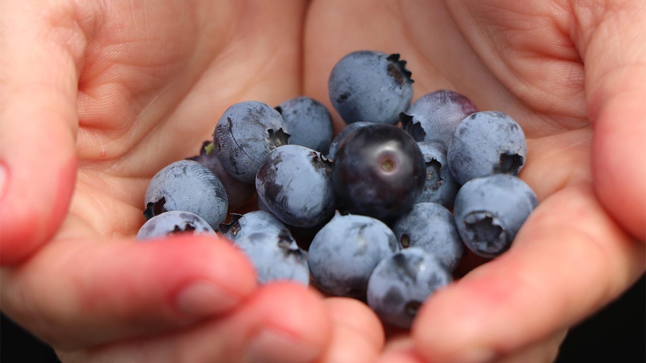
[[[1,14],[1,304],[63,362],[546,362],[644,271],[642,1],[8,0]],[[386,341],[359,302],[258,287],[225,241],[134,243],[148,180],[229,105],[329,106],[329,70],[357,49],[401,53],[413,98],[450,88],[521,124],[541,204],[508,253]]]

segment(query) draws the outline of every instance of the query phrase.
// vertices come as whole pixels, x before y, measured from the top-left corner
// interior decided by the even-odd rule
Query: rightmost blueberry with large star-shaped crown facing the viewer
[[[455,225],[466,247],[493,258],[505,252],[538,201],[522,180],[505,174],[475,178],[455,198]]]

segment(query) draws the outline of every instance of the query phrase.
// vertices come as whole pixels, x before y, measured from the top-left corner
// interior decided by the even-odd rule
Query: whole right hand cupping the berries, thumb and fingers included
[[[382,362],[553,360],[643,273],[644,19],[640,1],[313,2],[306,94],[327,101],[348,52],[399,52],[413,99],[450,88],[521,124],[520,177],[541,200],[512,249],[433,295]]]

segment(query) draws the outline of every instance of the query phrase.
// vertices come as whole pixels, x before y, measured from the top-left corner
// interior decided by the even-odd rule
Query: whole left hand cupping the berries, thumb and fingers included
[[[256,287],[229,243],[136,244],[148,181],[226,107],[300,94],[305,4],[3,3],[2,309],[64,362],[370,362],[364,306]],[[70,202],[71,201],[71,202]]]

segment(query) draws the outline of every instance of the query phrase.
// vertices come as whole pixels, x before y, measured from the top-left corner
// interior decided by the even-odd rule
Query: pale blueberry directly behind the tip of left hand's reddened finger
[[[307,253],[298,248],[287,229],[280,233],[245,234],[236,241],[256,268],[260,284],[275,280],[292,280],[309,285]]]

